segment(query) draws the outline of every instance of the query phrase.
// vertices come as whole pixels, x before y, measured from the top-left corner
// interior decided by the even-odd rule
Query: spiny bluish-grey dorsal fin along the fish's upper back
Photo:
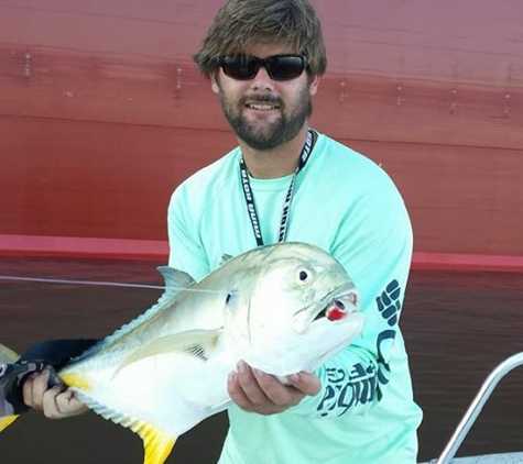
[[[127,333],[131,332],[134,328],[144,323],[156,312],[168,306],[173,300],[177,298],[179,294],[182,294],[186,288],[190,287],[195,283],[195,279],[190,277],[187,273],[184,273],[179,269],[175,269],[174,267],[160,266],[157,267],[157,270],[160,272],[160,274],[162,274],[164,278],[165,290],[160,297],[160,299],[156,301],[156,303],[149,308],[142,314],[138,316],[132,321],[128,322],[127,324],[123,324],[120,329],[106,336],[102,341],[83,353],[78,358],[87,357],[92,353],[98,352],[101,346],[108,345],[115,340],[118,340]]]

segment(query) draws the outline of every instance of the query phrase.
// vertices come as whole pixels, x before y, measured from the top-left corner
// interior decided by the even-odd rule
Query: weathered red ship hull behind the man
[[[4,253],[165,256],[171,192],[236,143],[190,58],[221,1],[117,3],[0,5]],[[523,268],[523,5],[318,7],[313,124],[395,179],[415,263]]]

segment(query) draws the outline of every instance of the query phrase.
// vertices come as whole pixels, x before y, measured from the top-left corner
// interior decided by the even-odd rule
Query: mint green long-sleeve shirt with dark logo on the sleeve
[[[257,246],[238,148],[199,170],[168,207],[170,265],[200,279],[224,254]],[[276,241],[292,176],[253,179],[264,243]],[[404,202],[369,158],[319,135],[298,173],[286,241],[333,254],[361,294],[362,335],[320,366],[322,391],[282,413],[232,406],[220,464],[412,464],[422,411],[399,321],[412,256]]]

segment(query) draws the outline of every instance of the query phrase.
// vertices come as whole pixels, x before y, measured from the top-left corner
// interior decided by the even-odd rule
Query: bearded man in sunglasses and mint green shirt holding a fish
[[[279,241],[331,253],[361,292],[363,334],[290,385],[244,362],[228,380],[235,406],[220,464],[412,464],[421,410],[397,322],[412,230],[396,188],[368,158],[309,128],[326,68],[309,0],[229,0],[195,60],[239,146],[174,192],[170,265],[200,279],[224,254]],[[69,391],[24,398],[47,417],[80,412]]]

